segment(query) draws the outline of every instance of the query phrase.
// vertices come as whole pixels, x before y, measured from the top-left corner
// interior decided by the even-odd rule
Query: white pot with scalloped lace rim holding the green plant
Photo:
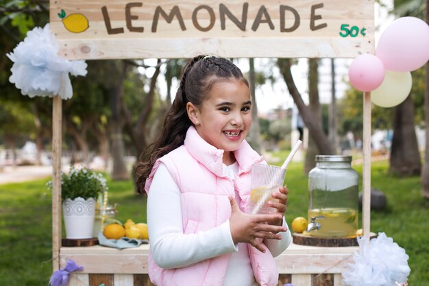
[[[75,198],[62,202],[62,215],[67,239],[88,239],[93,237],[95,199]]]

